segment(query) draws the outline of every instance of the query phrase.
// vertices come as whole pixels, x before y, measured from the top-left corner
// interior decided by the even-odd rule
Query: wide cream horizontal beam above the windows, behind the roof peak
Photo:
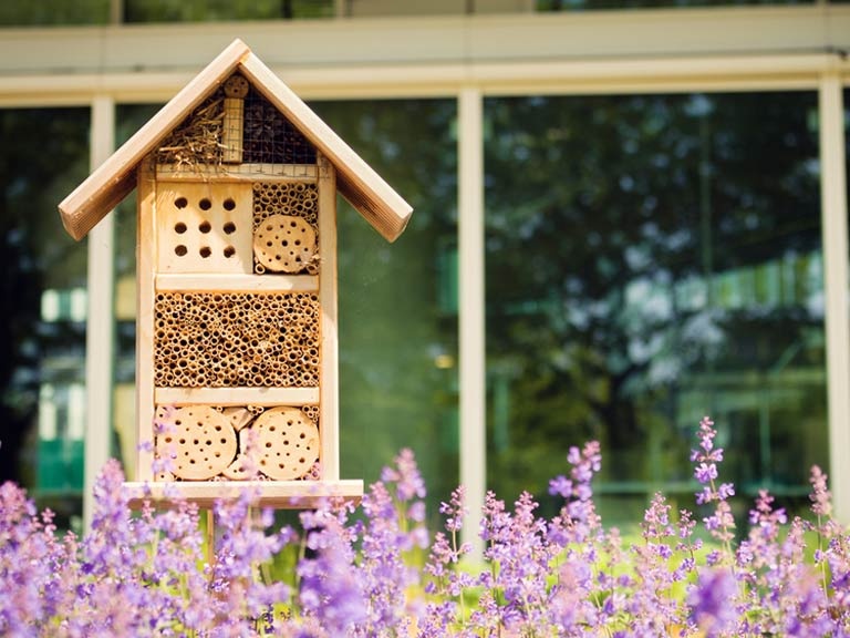
[[[850,6],[0,30],[0,75],[194,73],[239,37],[278,70],[850,51]]]

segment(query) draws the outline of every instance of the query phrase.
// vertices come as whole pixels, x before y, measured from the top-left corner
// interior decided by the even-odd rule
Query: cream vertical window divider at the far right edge
[[[847,178],[841,76],[826,71],[819,85],[820,194],[823,233],[830,486],[836,517],[850,521],[850,295],[848,295]]]

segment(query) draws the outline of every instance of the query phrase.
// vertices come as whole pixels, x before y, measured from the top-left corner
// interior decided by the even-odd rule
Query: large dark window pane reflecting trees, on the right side
[[[725,481],[805,501],[828,457],[817,95],[493,99],[486,124],[490,486],[545,498],[599,439],[603,516],[634,521],[688,497],[709,414]]]

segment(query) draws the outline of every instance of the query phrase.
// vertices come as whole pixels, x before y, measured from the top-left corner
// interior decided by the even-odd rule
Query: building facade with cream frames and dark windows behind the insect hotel
[[[135,445],[134,212],[55,205],[238,37],[415,209],[390,248],[340,207],[344,474],[553,507],[597,439],[635,522],[711,414],[739,494],[817,463],[850,519],[849,4],[9,4],[0,454],[43,503]]]

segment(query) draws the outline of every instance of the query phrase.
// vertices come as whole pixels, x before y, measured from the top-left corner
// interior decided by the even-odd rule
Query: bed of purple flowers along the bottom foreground
[[[487,495],[480,565],[458,542],[463,487],[440,507],[444,528],[426,528],[410,451],[361,512],[328,503],[302,512],[298,532],[252,511],[250,494],[217,504],[215,552],[190,504],[132,513],[117,462],[82,538],[59,537],[51,513],[7,483],[0,636],[847,636],[850,535],[831,518],[826,475],[812,469],[810,521],[761,492],[737,536],[715,433],[704,419],[692,454],[705,516],[656,494],[626,543],[595,513],[591,442],[550,482],[557,516],[538,516],[529,494],[512,508]]]

